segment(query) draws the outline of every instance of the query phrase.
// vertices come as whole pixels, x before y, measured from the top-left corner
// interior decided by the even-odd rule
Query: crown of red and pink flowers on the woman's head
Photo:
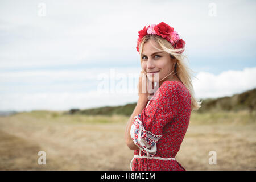
[[[148,34],[155,34],[161,36],[166,39],[168,42],[172,44],[174,49],[180,49],[185,47],[185,41],[180,39],[179,34],[174,31],[174,28],[170,27],[168,24],[161,22],[159,24],[151,24],[146,28],[146,26],[138,31],[139,37],[137,39],[136,49],[139,52],[139,44],[141,44],[141,40],[144,36]],[[179,51],[177,53],[183,53],[184,50]]]

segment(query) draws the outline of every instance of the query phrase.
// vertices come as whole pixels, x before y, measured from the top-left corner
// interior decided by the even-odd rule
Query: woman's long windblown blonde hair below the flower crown
[[[172,44],[170,42],[168,42],[166,39],[164,39],[158,35],[148,34],[148,35],[144,36],[141,40],[141,44],[139,45],[140,54],[143,51],[144,43],[146,43],[150,39],[155,40],[155,42],[158,43],[158,45],[162,48],[162,50],[158,49],[154,45],[152,45],[153,47],[155,47],[159,51],[164,51],[164,52],[169,53],[170,56],[172,57],[172,59],[176,60],[174,69],[175,69],[175,72],[177,73],[177,77],[181,80],[181,82],[183,82],[183,84],[188,89],[188,91],[191,95],[191,111],[198,110],[201,107],[202,101],[196,100],[196,98],[195,98],[195,92],[193,89],[192,78],[191,78],[191,76],[193,76],[191,72],[194,72],[194,71],[192,71],[192,69],[188,68],[184,62],[184,58],[187,58],[187,56],[185,56],[181,53],[177,53],[179,51],[183,51],[185,48],[174,49]],[[142,56],[141,56],[141,60],[142,60]]]

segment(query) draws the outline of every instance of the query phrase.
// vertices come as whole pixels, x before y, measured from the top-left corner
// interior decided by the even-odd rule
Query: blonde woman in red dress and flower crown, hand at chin
[[[139,99],[125,132],[126,144],[134,150],[131,170],[185,170],[175,156],[187,131],[191,110],[199,109],[201,102],[196,101],[193,93],[190,69],[182,54],[184,46],[184,40],[164,22],[139,31]],[[150,97],[148,88],[153,85],[155,89],[155,83],[159,88]],[[146,92],[142,92],[145,85]]]

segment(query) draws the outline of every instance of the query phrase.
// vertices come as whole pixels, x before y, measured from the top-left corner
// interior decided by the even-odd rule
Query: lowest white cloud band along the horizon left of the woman
[[[136,102],[136,93],[108,93],[96,91],[86,93],[34,93],[7,94],[1,100],[0,110],[69,110],[71,108],[89,109],[101,106],[117,106]]]

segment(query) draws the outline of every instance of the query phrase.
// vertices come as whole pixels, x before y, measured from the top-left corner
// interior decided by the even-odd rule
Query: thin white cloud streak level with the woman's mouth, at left
[[[78,82],[78,81],[96,81],[100,75],[106,75],[108,78],[114,79],[118,75],[129,77],[129,74],[138,75],[140,68],[88,68],[88,69],[61,69],[46,71],[9,71],[0,72],[0,85],[8,83],[15,84],[45,84],[51,82]]]

